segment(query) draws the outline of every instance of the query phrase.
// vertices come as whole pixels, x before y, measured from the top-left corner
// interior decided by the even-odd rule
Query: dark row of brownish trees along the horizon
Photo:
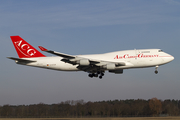
[[[178,116],[180,100],[152,98],[84,102],[69,100],[58,104],[3,105],[0,117],[125,117],[125,116]]]

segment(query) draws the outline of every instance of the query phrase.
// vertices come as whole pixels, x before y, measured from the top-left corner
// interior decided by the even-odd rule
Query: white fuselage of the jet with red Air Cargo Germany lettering
[[[166,64],[174,59],[173,56],[161,51],[160,49],[139,49],[139,50],[125,50],[110,52],[104,54],[92,54],[92,55],[75,55],[82,58],[91,60],[106,61],[106,62],[124,62],[124,66],[117,66],[118,69],[128,68],[143,68],[153,67]],[[24,58],[27,60],[34,60],[36,62],[18,64],[41,67],[60,71],[79,71],[78,65],[72,65],[61,61],[62,57],[36,57],[36,58]]]

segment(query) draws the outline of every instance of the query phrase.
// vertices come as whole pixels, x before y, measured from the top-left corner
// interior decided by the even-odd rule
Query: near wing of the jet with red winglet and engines
[[[63,59],[61,59],[61,61],[65,62],[65,63],[69,63],[72,65],[78,65],[77,68],[80,70],[83,70],[83,71],[97,71],[97,70],[105,69],[106,65],[112,65],[112,66],[114,65],[116,67],[126,65],[125,62],[109,62],[109,61],[102,61],[102,60],[94,60],[94,59],[59,53],[59,52],[52,51],[52,50],[47,50],[46,48],[44,48],[42,46],[38,46],[38,47],[42,51],[62,57]]]

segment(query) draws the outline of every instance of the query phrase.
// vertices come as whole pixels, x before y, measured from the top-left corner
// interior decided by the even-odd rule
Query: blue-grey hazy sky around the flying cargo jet
[[[178,0],[0,0],[0,105],[52,104],[66,100],[180,99],[180,2]],[[37,48],[95,54],[160,48],[175,60],[155,68],[61,72],[16,65],[11,35]],[[43,53],[45,55],[49,55]],[[51,56],[51,55],[49,55]]]

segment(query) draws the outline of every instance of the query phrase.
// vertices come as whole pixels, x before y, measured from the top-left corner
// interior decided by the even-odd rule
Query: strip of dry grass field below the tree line
[[[123,117],[123,118],[0,118],[0,120],[180,120],[180,117]]]

